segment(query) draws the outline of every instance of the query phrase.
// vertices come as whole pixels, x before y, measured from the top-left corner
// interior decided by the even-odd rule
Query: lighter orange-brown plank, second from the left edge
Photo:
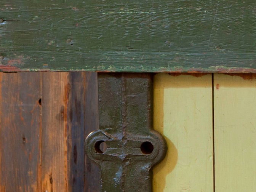
[[[42,74],[42,189],[67,192],[69,73]]]

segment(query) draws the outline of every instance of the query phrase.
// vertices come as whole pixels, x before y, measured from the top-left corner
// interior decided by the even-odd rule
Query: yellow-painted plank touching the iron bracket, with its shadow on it
[[[154,129],[168,144],[154,192],[213,192],[211,74],[155,75]]]

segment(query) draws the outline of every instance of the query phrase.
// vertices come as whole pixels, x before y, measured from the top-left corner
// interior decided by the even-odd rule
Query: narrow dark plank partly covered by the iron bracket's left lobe
[[[98,117],[98,75],[85,73],[85,135],[99,128]],[[85,192],[100,190],[99,167],[85,156]]]

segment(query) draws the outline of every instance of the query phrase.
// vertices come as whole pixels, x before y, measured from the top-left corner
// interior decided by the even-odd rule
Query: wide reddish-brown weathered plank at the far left
[[[1,192],[42,192],[40,80],[0,73]]]

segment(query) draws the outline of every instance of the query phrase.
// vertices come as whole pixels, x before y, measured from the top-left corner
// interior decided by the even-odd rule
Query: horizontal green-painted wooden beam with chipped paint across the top
[[[2,71],[256,72],[254,0],[2,0],[0,10]]]

